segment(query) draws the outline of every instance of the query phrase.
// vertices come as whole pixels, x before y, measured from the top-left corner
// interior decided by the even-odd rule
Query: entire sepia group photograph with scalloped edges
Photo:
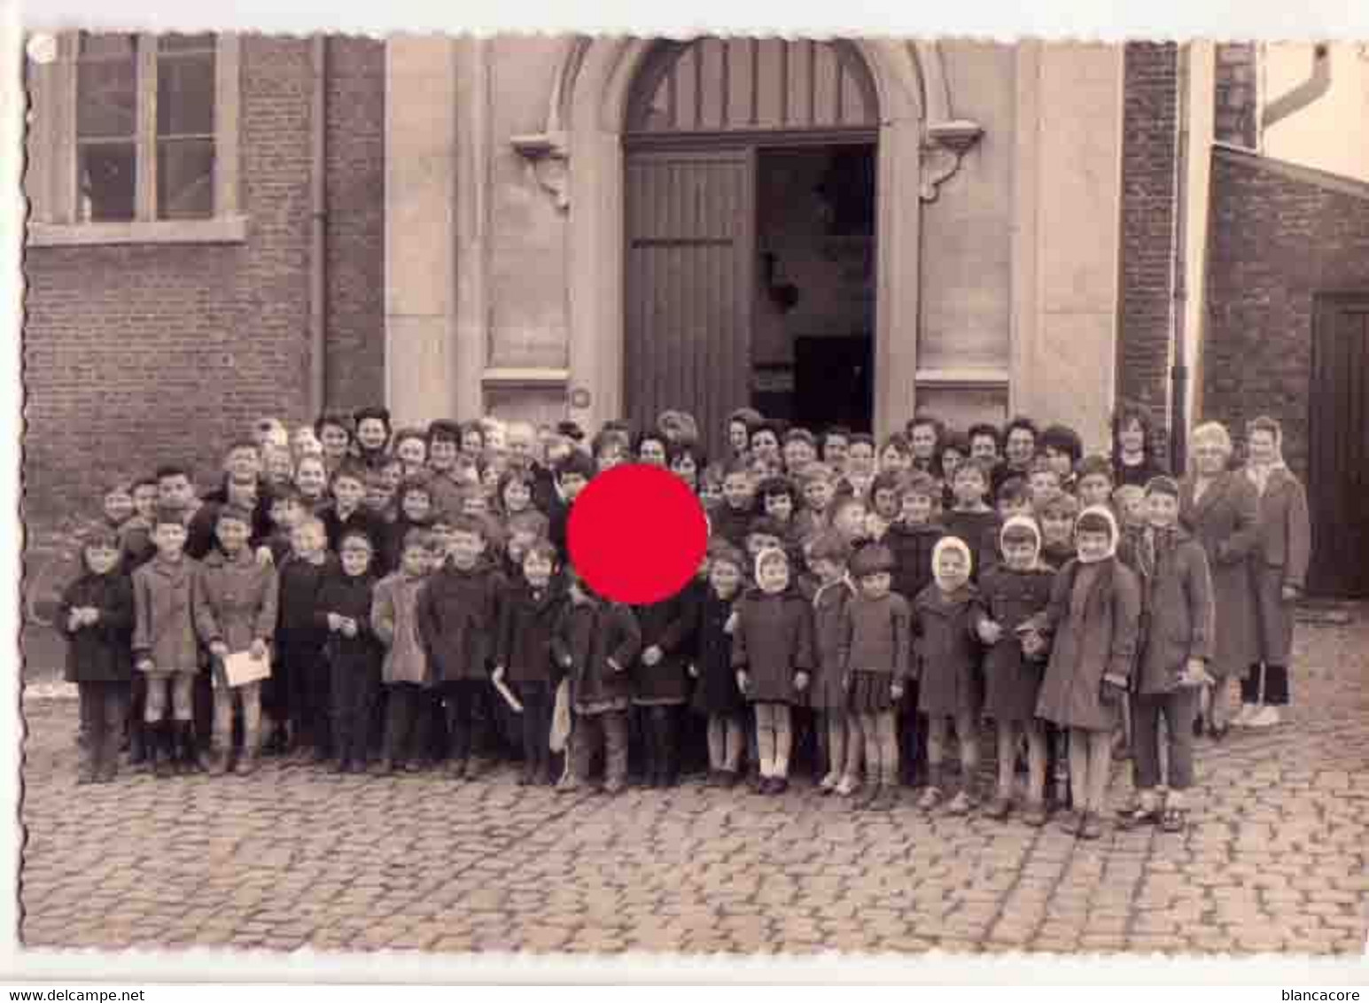
[[[25,948],[1364,952],[1369,45],[23,85]]]

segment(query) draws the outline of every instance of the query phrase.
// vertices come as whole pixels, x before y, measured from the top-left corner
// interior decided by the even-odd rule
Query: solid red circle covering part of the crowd
[[[683,480],[643,464],[596,476],[571,505],[565,543],[600,595],[645,605],[668,599],[698,572],[708,520]]]

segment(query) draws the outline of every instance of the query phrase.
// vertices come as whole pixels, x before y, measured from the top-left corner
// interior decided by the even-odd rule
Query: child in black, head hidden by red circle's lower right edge
[[[689,698],[689,657],[698,628],[700,595],[691,586],[632,608],[642,631],[642,654],[632,668],[632,705],[642,714],[648,787],[674,787],[679,777],[679,712]]]

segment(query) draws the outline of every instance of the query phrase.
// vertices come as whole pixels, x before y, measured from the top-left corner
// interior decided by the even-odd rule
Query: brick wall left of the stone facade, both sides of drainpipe
[[[329,397],[381,400],[383,44],[333,44]],[[31,248],[25,491],[36,519],[110,478],[192,464],[208,484],[253,419],[309,406],[311,48],[242,41],[240,245]]]

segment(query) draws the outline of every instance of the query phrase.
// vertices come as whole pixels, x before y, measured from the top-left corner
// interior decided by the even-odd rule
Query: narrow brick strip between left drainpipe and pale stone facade
[[[385,401],[385,42],[329,40],[330,406]]]

